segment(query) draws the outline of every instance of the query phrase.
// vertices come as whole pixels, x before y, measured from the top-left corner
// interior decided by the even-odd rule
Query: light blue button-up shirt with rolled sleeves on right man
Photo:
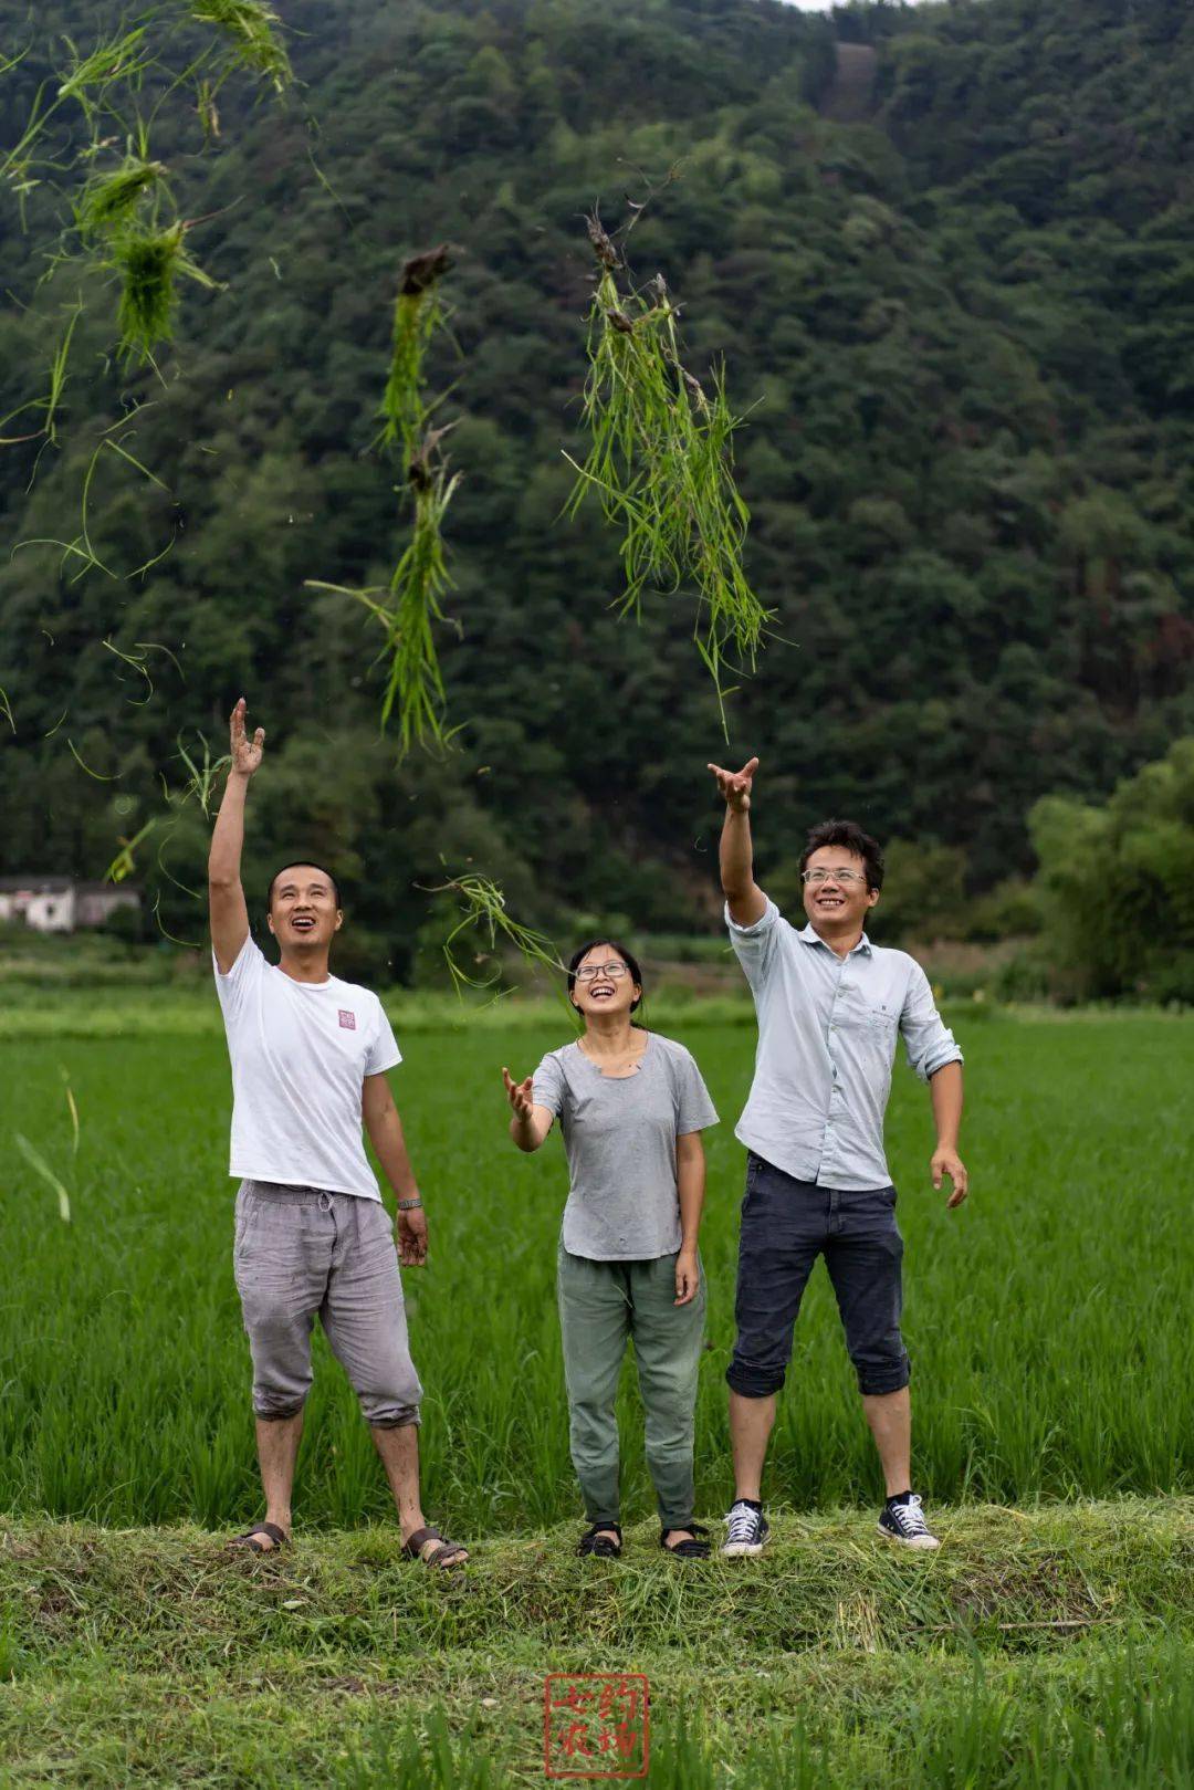
[[[890,1187],[883,1115],[897,1033],[927,1081],[961,1051],[906,950],[863,933],[840,958],[811,925],[789,925],[773,900],[730,943],[750,983],[759,1047],[736,1137],[764,1162],[820,1187]]]

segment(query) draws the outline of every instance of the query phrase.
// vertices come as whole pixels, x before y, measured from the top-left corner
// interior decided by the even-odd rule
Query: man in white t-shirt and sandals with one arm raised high
[[[406,1344],[399,1260],[422,1266],[428,1228],[403,1126],[385,1079],[399,1061],[369,988],[329,974],[344,924],[335,879],[285,865],[269,890],[281,961],[249,936],[240,882],[245,795],[265,734],[233,709],[224,800],[211,836],[208,891],[215,984],[233,1063],[233,1149],[240,1178],[233,1266],[252,1351],[252,1409],[265,1518],[236,1541],[269,1554],[290,1541],[290,1493],[311,1385],[311,1328],[324,1326],[387,1471],[403,1554],[428,1566],[469,1556],[428,1527],[419,1500],[422,1387]],[[397,1194],[397,1249],[362,1140],[362,1121]]]

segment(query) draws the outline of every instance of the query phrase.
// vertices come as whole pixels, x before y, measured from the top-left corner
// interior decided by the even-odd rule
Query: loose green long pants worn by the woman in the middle
[[[664,1529],[693,1522],[693,1412],[705,1330],[705,1269],[696,1298],[675,1303],[675,1255],[593,1262],[560,1244],[557,1296],[567,1380],[569,1443],[591,1523],[619,1520],[618,1375],[634,1337],[646,1411],[646,1464]]]

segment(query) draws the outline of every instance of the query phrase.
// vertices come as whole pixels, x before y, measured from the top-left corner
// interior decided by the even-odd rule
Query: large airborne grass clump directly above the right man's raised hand
[[[768,621],[743,569],[750,510],[732,455],[741,417],[730,412],[723,367],[712,371],[712,394],[684,367],[662,276],[623,292],[625,261],[596,211],[587,227],[598,260],[582,405],[591,446],[584,465],[566,455],[576,469],[567,514],[596,490],[621,528],[623,614],[637,612],[648,584],[696,587],[693,632],[725,729],[725,657],[732,648],[754,669]]]

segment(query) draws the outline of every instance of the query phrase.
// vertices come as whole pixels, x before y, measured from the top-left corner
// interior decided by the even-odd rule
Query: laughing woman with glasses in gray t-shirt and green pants
[[[693,1414],[705,1328],[696,1232],[705,1196],[700,1133],[718,1115],[682,1044],[635,1026],[643,976],[632,954],[593,940],[573,956],[567,995],[585,1029],[516,1083],[503,1069],[519,1149],[560,1121],[569,1192],[557,1257],[571,1455],[591,1527],[580,1554],[621,1554],[614,1394],[634,1337],[646,1462],[661,1545],[704,1559],[693,1522]]]

